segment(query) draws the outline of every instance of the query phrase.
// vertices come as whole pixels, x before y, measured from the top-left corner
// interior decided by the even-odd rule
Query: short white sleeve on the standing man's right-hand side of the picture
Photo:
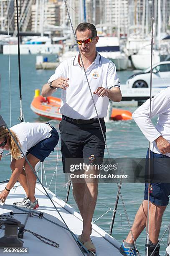
[[[110,90],[114,87],[120,88],[120,81],[117,76],[116,66],[114,65],[113,62],[110,62],[109,68],[107,71],[107,89]]]

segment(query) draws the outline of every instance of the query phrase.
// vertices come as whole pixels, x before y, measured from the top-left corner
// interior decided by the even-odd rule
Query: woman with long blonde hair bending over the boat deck
[[[31,166],[35,168],[39,161],[43,162],[51,151],[54,151],[58,143],[58,132],[46,123],[19,123],[9,130],[10,132],[5,126],[0,128],[0,159],[4,150],[10,151],[13,158],[10,167],[13,173],[5,189],[0,193],[0,202],[5,202],[10,189],[18,180],[27,196],[22,202],[13,204],[36,209],[39,206],[35,198],[36,175]],[[31,166],[25,160],[25,156]]]

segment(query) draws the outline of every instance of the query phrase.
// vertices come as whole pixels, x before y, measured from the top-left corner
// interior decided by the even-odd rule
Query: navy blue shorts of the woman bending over
[[[35,146],[28,149],[26,156],[28,156],[28,154],[32,154],[36,158],[40,159],[41,162],[43,162],[45,158],[49,156],[51,151],[54,151],[54,148],[57,145],[59,139],[58,132],[54,127],[50,133],[51,136],[49,138],[38,142]]]

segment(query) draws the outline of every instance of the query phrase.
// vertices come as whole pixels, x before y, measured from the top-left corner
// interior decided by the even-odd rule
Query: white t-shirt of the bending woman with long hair
[[[52,128],[46,123],[19,123],[10,128],[20,142],[20,147],[24,154],[28,149],[35,146],[39,141],[51,136]],[[3,149],[0,148],[0,154],[3,154]],[[20,158],[23,157],[21,154]]]

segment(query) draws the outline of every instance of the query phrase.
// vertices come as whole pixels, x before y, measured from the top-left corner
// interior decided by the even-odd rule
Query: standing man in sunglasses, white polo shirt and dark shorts
[[[115,65],[96,51],[99,37],[95,26],[90,23],[79,24],[76,28],[76,40],[86,75],[81,58],[77,54],[63,61],[42,89],[44,97],[50,96],[58,88],[62,89],[60,113],[63,116],[60,132],[64,172],[68,172],[65,166],[66,158],[103,160],[105,142],[96,110],[105,136],[104,117],[107,116],[109,99],[116,102],[122,99]],[[90,251],[95,251],[90,235],[91,220],[97,200],[97,184],[73,183],[73,194],[84,221],[79,240]]]

